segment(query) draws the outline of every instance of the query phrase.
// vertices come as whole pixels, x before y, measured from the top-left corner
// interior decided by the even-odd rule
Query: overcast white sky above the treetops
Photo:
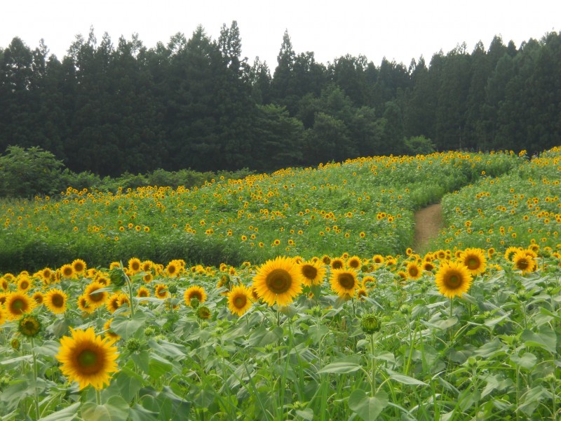
[[[496,34],[516,46],[546,32],[561,30],[559,0],[26,0],[2,2],[0,47],[19,36],[34,49],[43,38],[60,60],[76,34],[87,37],[93,25],[114,46],[119,36],[137,32],[147,48],[167,44],[177,32],[187,39],[203,25],[217,39],[223,23],[238,22],[242,55],[256,55],[272,70],[288,29],[296,53],[313,51],[318,62],[344,54],[363,54],[379,65],[382,58],[409,65],[412,58],[444,53],[481,40],[485,48]]]

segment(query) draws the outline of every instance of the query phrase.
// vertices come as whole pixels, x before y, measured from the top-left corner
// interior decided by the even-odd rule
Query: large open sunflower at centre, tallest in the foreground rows
[[[295,262],[286,257],[267,260],[257,269],[253,286],[268,305],[285,306],[302,292],[302,274]]]

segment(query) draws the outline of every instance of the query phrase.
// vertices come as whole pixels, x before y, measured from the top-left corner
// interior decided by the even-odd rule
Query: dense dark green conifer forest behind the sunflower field
[[[465,44],[407,67],[316,62],[285,32],[277,65],[241,55],[236,21],[146,48],[90,29],[62,61],[0,48],[0,152],[38,146],[100,175],[271,171],[357,156],[549,149],[561,139],[561,32]]]

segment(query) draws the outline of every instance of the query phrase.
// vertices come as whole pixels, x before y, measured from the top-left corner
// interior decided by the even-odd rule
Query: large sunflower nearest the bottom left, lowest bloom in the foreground
[[[70,381],[79,383],[80,389],[92,385],[102,389],[109,385],[111,373],[118,370],[115,360],[117,348],[109,338],[96,336],[93,328],[86,330],[70,328],[72,338],[62,337],[56,358],[62,366],[62,374]]]

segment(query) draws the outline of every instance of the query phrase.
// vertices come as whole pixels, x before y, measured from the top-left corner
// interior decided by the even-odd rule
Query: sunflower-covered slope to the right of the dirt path
[[[561,147],[543,152],[506,175],[445,196],[447,229],[436,247],[490,247],[537,243],[555,247],[561,232]]]

